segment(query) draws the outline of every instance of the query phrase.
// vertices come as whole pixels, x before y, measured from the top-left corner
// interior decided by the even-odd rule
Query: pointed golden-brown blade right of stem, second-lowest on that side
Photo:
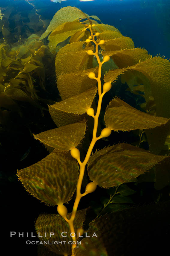
[[[168,120],[139,111],[119,98],[110,101],[105,113],[105,125],[114,131],[151,129],[167,123]]]

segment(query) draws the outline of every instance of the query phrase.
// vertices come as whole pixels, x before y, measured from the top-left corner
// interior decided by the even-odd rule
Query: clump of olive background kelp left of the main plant
[[[12,111],[18,109],[20,116],[23,114],[22,107],[19,107],[20,101],[28,102],[41,111],[47,110],[45,105],[52,103],[48,99],[51,85],[47,86],[46,80],[53,76],[49,66],[54,63],[54,59],[48,47],[38,38],[32,35],[25,45],[18,48],[9,49],[4,43],[0,45],[1,107]]]

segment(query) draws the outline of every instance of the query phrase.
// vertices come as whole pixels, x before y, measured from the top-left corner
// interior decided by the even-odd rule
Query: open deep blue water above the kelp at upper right
[[[124,36],[133,39],[135,47],[145,48],[151,55],[170,58],[169,0],[69,0],[61,4],[51,2],[48,13],[53,16],[61,7],[69,5],[89,15],[97,15],[103,23],[115,26]]]

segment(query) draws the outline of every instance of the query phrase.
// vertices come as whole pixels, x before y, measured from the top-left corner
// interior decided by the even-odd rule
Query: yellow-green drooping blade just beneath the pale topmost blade
[[[55,47],[58,43],[63,42],[69,36],[73,36],[76,32],[83,30],[85,25],[74,22],[65,22],[58,26],[49,36],[49,49],[51,52],[55,53]]]

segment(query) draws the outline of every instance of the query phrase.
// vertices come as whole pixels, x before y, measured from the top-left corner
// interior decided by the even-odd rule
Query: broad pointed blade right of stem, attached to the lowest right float
[[[95,152],[88,161],[90,180],[102,187],[130,182],[168,156],[157,156],[121,143]]]

